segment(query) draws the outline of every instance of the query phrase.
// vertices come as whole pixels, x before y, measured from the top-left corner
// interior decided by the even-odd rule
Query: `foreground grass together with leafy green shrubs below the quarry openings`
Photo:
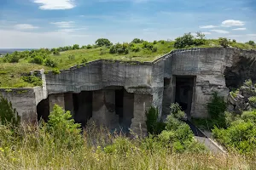
[[[93,122],[81,133],[70,112],[55,105],[49,122],[40,122],[37,127],[0,126],[0,168],[228,169],[255,166],[254,156],[213,156],[201,151],[194,140],[183,144],[188,136],[193,139],[189,128],[181,124],[174,133],[172,121],[167,122],[170,124],[158,139],[153,136],[129,139],[96,127]]]

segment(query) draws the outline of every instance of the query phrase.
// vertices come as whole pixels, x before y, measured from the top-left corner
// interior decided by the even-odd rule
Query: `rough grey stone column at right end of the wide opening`
[[[131,120],[131,132],[141,136],[147,135],[146,111],[152,104],[152,96],[148,94],[134,94],[134,118]]]

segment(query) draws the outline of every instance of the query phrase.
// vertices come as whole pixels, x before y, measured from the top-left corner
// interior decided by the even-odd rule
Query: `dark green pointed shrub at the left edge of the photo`
[[[11,102],[4,99],[3,96],[0,96],[0,122],[1,125],[11,127],[17,127],[20,124],[20,116],[17,111],[13,109]]]

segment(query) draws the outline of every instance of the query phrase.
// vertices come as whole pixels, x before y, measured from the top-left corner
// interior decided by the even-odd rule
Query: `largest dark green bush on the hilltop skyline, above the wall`
[[[194,44],[194,37],[191,33],[185,33],[183,37],[177,37],[175,39],[174,48],[185,48]]]

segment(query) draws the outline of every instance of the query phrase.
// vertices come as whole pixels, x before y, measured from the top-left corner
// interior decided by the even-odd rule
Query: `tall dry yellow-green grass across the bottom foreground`
[[[15,133],[15,136],[13,135]],[[22,126],[11,131],[0,126],[0,169],[255,169],[255,156],[174,153],[156,146],[147,150],[143,139],[109,133],[93,124],[83,133],[83,144],[53,142],[46,129]],[[73,141],[76,143],[76,141]],[[107,150],[115,144],[114,150]]]

